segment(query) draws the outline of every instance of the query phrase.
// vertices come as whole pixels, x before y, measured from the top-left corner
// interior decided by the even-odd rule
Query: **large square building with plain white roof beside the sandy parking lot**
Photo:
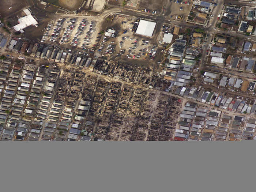
[[[153,35],[155,25],[157,23],[147,20],[140,20],[136,34],[145,35],[151,37]]]

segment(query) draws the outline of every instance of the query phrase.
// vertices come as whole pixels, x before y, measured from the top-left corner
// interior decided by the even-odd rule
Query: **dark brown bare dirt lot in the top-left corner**
[[[0,2],[0,15],[2,17],[12,15],[28,5],[26,0],[1,0]],[[12,8],[9,9],[9,7]]]

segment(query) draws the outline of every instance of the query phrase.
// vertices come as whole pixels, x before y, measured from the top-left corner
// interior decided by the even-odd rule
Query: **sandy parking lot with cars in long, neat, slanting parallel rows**
[[[98,41],[97,33],[99,33],[100,28],[97,27],[97,24],[98,22],[93,19],[78,17],[53,20],[46,27],[41,42],[87,49],[93,47]]]

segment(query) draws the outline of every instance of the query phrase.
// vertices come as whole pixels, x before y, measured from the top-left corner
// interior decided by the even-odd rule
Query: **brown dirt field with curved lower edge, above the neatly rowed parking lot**
[[[79,5],[81,4],[83,0],[45,0],[45,2],[63,7],[67,10],[77,10],[79,8]]]

